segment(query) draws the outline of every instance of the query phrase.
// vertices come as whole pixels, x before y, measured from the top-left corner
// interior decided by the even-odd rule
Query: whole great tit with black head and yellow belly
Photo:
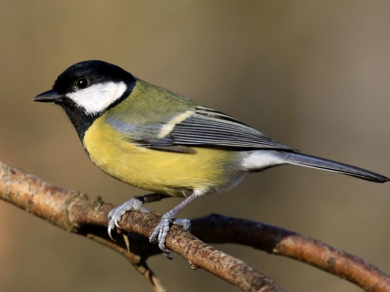
[[[196,198],[228,190],[245,173],[297,164],[385,183],[383,175],[299,153],[236,119],[178,93],[138,79],[99,60],[79,62],[61,73],[53,89],[34,101],[54,102],[69,116],[89,158],[112,177],[163,196],[185,198],[162,216],[149,238],[165,256],[170,225]],[[113,209],[108,233],[130,209],[148,212],[137,198]]]

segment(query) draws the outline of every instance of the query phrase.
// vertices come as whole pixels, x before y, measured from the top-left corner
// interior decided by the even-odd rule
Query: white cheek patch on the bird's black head
[[[106,82],[93,84],[86,89],[67,93],[65,96],[72,99],[85,110],[94,114],[107,109],[127,90],[124,82]]]

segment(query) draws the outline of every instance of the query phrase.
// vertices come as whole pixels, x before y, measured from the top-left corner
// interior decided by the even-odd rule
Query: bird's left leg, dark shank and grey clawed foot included
[[[114,240],[114,238],[111,236],[111,230],[113,230],[115,226],[120,228],[119,221],[126,212],[134,210],[149,213],[150,211],[143,206],[144,203],[160,201],[168,197],[170,196],[157,193],[136,196],[131,200],[124,202],[122,205],[112,209],[110,213],[108,213],[108,236]]]

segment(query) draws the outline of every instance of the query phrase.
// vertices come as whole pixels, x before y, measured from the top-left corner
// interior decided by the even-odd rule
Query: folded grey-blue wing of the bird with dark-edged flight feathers
[[[166,124],[135,126],[117,117],[108,117],[107,122],[122,133],[129,133],[132,142],[159,150],[191,152],[186,148],[202,146],[294,150],[219,111],[204,107],[197,107],[194,111],[189,117],[172,125],[172,129],[162,137],[161,131]]]

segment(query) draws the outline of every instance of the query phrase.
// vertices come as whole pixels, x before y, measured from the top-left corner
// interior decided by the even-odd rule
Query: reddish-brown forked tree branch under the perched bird
[[[83,193],[56,187],[1,163],[0,198],[64,230],[91,238],[117,251],[152,284],[156,292],[165,291],[146,263],[149,256],[160,254],[157,245],[150,244],[147,239],[158,224],[160,215],[153,212],[126,213],[120,223],[123,230],[130,232],[127,236],[129,244],[126,246],[123,238],[115,232],[116,242],[113,242],[107,235],[107,215],[114,207],[112,204],[104,203],[100,198],[91,201]],[[366,291],[390,291],[389,275],[359,257],[315,239],[259,222],[215,214],[192,219],[191,222],[192,234],[177,226],[172,227],[167,237],[167,247],[185,257],[194,269],[202,268],[243,291],[282,290],[247,263],[205,242],[252,246],[309,263],[343,277]]]

